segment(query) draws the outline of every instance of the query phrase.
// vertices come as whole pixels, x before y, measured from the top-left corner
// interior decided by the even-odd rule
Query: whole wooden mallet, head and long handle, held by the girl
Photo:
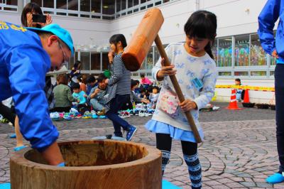
[[[160,57],[165,59],[164,65],[170,65],[168,56],[166,55],[163,44],[158,36],[158,31],[160,30],[163,21],[164,18],[160,9],[150,9],[146,11],[142,21],[139,23],[138,28],[132,36],[129,45],[127,45],[126,50],[121,56],[128,70],[139,70],[143,60],[146,58],[146,55],[151,48],[153,41],[155,41],[155,45],[157,45],[157,48],[160,52]],[[177,93],[180,102],[185,101],[185,97],[182,95],[182,90],[180,90],[180,85],[178,85],[177,77],[175,77],[175,75],[171,75],[170,80],[173,83],[173,87],[175,88],[175,92]],[[195,135],[195,140],[197,143],[201,143],[202,139],[200,138],[200,134],[198,133],[192,115],[190,112],[185,112],[185,115],[188,123],[190,124],[191,130]]]

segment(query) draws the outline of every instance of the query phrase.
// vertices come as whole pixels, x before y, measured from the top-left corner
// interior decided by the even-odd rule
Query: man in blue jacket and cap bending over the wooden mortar
[[[58,24],[23,28],[0,21],[0,102],[13,97],[23,137],[50,165],[62,165],[58,130],[49,117],[45,73],[74,54],[70,33]]]

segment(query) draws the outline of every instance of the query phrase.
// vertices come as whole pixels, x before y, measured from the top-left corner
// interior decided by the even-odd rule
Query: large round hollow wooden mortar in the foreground
[[[112,140],[59,145],[66,167],[46,165],[32,148],[11,156],[11,188],[161,188],[161,153],[156,148]]]

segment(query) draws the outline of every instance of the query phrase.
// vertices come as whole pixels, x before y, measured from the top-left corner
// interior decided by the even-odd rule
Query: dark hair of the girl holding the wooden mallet
[[[209,11],[195,11],[185,23],[185,34],[189,38],[207,38],[214,43],[217,30],[216,15]],[[204,50],[211,58],[214,58],[211,47],[208,43]]]

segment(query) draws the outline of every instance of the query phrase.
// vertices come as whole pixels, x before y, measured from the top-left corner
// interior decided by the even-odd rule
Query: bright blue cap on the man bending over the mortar
[[[57,23],[51,23],[43,28],[27,28],[30,31],[47,31],[53,33],[55,36],[58,36],[71,50],[71,54],[74,55],[74,45],[70,33],[61,28]]]

